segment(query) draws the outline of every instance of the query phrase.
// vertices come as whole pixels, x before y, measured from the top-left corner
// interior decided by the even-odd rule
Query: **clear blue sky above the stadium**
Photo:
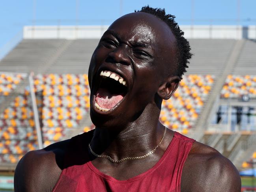
[[[122,9],[120,11],[120,2]],[[192,3],[193,2],[193,3]],[[149,5],[165,8],[179,24],[237,24],[238,0],[1,0],[0,49],[24,25],[110,24],[121,14]],[[193,6],[191,6],[193,5]],[[241,24],[256,25],[256,0],[240,0]],[[192,9],[192,7],[194,7]],[[192,11],[193,10],[193,11]],[[254,21],[252,21],[254,19]],[[206,21],[207,20],[207,21]]]

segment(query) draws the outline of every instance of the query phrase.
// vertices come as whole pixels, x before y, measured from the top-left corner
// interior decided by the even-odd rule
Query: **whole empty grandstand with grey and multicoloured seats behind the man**
[[[29,29],[0,60],[1,169],[13,170],[22,155],[39,148],[36,121],[43,146],[93,128],[86,74],[104,30],[95,27],[97,35],[90,35],[92,28],[78,29],[77,34],[86,37],[51,30],[44,37],[39,28],[33,35]],[[212,36],[204,39],[189,36],[194,57],[176,93],[163,101],[160,120],[215,147],[243,169],[256,149],[256,41],[208,32]],[[28,80],[32,71],[34,90]],[[36,93],[38,119],[32,93]]]

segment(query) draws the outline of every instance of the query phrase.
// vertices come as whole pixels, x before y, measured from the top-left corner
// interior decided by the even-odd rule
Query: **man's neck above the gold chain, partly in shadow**
[[[157,113],[150,113],[152,111]],[[159,114],[159,109],[145,108],[140,117],[118,131],[96,127],[90,143],[93,151],[114,160],[146,155],[159,144],[163,136],[164,126],[159,122]]]

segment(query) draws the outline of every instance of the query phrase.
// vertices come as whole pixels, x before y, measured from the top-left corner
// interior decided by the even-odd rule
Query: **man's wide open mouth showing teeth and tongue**
[[[124,78],[112,71],[101,71],[101,82],[95,94],[95,107],[103,112],[114,108],[127,94]]]

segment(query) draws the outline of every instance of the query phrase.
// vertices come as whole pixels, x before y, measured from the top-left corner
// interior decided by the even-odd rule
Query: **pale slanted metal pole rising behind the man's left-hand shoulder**
[[[33,73],[30,73],[30,75],[28,77],[28,81],[29,81],[29,86],[30,86],[30,95],[31,95],[32,107],[33,107],[33,112],[34,112],[34,121],[35,121],[35,125],[36,125],[38,148],[43,149],[42,134],[41,134],[41,129],[40,129],[37,104],[36,104],[36,94],[34,91]]]

